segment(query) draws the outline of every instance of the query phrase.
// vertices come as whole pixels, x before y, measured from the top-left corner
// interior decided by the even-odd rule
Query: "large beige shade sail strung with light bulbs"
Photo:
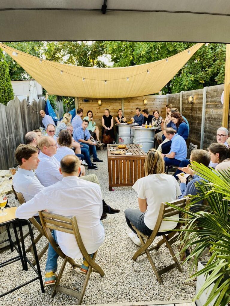
[[[121,68],[89,68],[41,60],[0,43],[27,73],[50,95],[126,98],[159,92],[191,56],[203,45],[196,45],[167,59]]]

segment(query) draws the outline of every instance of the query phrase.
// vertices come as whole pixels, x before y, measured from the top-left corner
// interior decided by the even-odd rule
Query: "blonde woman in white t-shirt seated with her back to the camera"
[[[156,225],[160,203],[174,201],[177,196],[181,195],[177,180],[172,175],[164,173],[164,160],[159,151],[155,149],[148,151],[144,171],[145,177],[137,180],[132,186],[137,192],[139,209],[128,208],[125,210],[126,222],[132,230],[128,236],[139,246],[141,245],[140,239],[130,223],[145,235],[150,236]],[[175,215],[171,218],[178,217]],[[173,221],[163,221],[159,232],[172,230],[176,225],[177,223]]]

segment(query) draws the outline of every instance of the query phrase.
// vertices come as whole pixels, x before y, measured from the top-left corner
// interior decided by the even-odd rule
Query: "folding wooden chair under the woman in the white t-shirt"
[[[184,208],[186,205],[189,204],[189,197],[185,197],[183,199],[176,200],[176,201],[169,202],[169,203],[172,203],[172,204],[174,204],[178,207]],[[137,235],[140,239],[140,242],[142,244],[142,246],[132,256],[132,259],[136,260],[137,257],[139,257],[143,254],[146,254],[147,258],[148,258],[148,260],[149,260],[149,262],[150,262],[150,264],[153,268],[153,271],[156,274],[157,280],[161,284],[163,284],[161,274],[163,274],[167,271],[170,271],[173,268],[178,268],[178,270],[180,272],[183,272],[182,268],[181,268],[181,266],[178,262],[178,259],[175,256],[173,248],[172,248],[172,244],[175,241],[177,241],[178,230],[180,229],[182,224],[178,222],[177,226],[175,227],[175,229],[173,231],[168,231],[167,233],[164,233],[162,235],[163,238],[154,247],[151,247],[151,248],[149,248],[149,247],[151,246],[152,242],[154,241],[155,237],[157,236],[163,219],[172,217],[172,216],[180,214],[180,213],[181,212],[178,209],[172,208],[172,207],[168,206],[166,203],[162,202],[160,204],[160,211],[159,211],[159,215],[158,215],[158,218],[157,218],[155,228],[152,231],[150,236],[146,236],[146,235],[142,234],[139,230],[136,229],[135,226],[132,225],[133,229],[136,231],[136,233],[137,233]],[[176,234],[177,234],[177,236],[176,236]],[[152,250],[158,250],[164,243],[166,244],[166,247],[169,249],[169,251],[171,253],[171,256],[173,257],[174,263],[158,271],[149,252],[152,251]]]

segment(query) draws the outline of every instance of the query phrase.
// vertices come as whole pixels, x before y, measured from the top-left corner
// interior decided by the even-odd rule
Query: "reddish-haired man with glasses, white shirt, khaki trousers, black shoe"
[[[55,184],[58,181],[62,181],[63,176],[59,172],[60,163],[54,157],[57,151],[55,140],[52,137],[42,137],[38,143],[38,147],[41,150],[39,154],[40,162],[37,169],[35,170],[35,173],[40,183],[47,187]],[[99,185],[98,178],[94,174],[83,176],[81,179]],[[102,219],[106,218],[106,214],[116,214],[118,212],[120,212],[119,209],[110,207],[103,200]]]

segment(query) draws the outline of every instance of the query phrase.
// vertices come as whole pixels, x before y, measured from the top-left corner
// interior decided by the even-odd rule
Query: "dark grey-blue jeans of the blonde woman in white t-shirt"
[[[128,224],[128,227],[136,233],[136,231],[132,228],[132,223],[137,230],[142,232],[144,235],[150,236],[152,230],[150,230],[144,223],[144,212],[139,211],[139,209],[128,208],[125,210],[125,219]]]

